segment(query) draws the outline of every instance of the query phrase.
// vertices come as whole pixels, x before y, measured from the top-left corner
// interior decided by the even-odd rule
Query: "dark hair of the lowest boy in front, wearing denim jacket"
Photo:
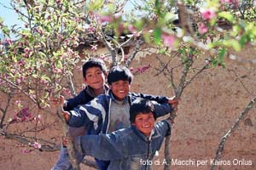
[[[154,104],[150,100],[141,98],[134,100],[130,107],[130,122],[135,122],[139,113],[148,114],[149,112],[153,113],[154,120],[156,120]]]

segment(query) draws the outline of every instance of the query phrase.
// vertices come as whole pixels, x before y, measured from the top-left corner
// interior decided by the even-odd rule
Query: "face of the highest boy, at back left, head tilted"
[[[90,88],[99,89],[103,87],[105,75],[100,67],[90,67],[85,73],[84,82]]]

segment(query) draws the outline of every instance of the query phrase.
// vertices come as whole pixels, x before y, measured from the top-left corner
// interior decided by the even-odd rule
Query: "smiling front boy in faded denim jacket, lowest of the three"
[[[171,134],[169,121],[154,124],[157,115],[148,99],[137,99],[130,108],[131,127],[113,133],[84,135],[75,139],[77,150],[88,156],[110,160],[108,169],[150,169],[150,162],[160,150],[164,138]]]

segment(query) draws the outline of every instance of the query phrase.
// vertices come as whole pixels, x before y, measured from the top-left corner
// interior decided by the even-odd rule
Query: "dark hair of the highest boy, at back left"
[[[102,59],[90,58],[83,65],[83,77],[86,76],[86,71],[91,67],[99,67],[104,74],[106,74],[107,67]]]

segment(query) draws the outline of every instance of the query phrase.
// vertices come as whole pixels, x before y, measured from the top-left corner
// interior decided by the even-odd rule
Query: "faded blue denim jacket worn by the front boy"
[[[84,154],[110,160],[110,170],[148,170],[166,135],[171,134],[171,124],[166,121],[154,124],[148,139],[135,126],[109,134],[85,135],[80,144]],[[154,161],[153,161],[154,162]]]

